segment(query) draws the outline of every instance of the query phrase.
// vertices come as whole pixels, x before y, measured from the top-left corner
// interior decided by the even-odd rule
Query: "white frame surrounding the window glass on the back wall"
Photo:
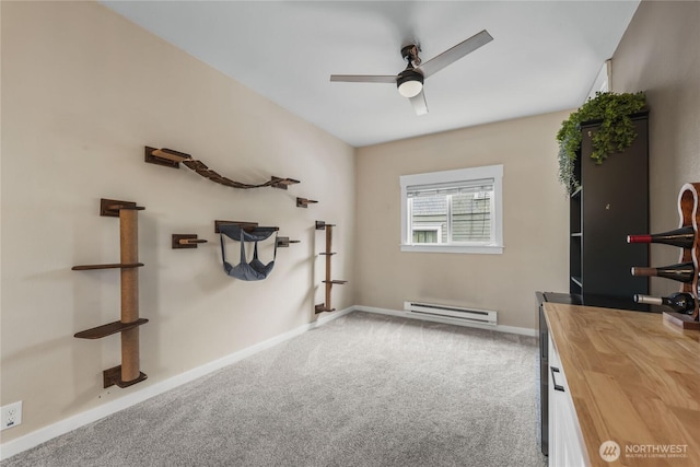
[[[491,213],[491,229],[493,242],[490,244],[413,244],[409,215],[409,186],[432,185],[444,183],[471,182],[493,179],[493,211]],[[472,253],[495,254],[503,253],[503,165],[486,165],[481,167],[458,168],[455,171],[430,172],[425,174],[401,175],[401,252],[419,253]]]

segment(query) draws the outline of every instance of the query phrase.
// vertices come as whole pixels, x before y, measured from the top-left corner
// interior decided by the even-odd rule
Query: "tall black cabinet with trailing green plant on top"
[[[649,246],[628,244],[627,235],[649,232],[648,113],[632,116],[637,138],[603,164],[591,159],[599,121],[582,125],[575,175],[581,188],[570,198],[570,293],[631,296],[649,293],[649,278],[632,277],[632,266],[649,265]]]

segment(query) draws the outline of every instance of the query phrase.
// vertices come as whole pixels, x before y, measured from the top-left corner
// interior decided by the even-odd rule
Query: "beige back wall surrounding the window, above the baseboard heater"
[[[555,135],[568,112],[362,148],[357,162],[359,305],[404,300],[497,310],[536,328],[537,290],[568,290],[568,209]],[[401,253],[399,176],[503,164],[502,255]]]

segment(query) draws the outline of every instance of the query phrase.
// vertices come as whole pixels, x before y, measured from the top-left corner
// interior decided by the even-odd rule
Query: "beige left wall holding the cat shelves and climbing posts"
[[[188,152],[242,182],[302,180],[289,191],[236,190],[187,168],[143,162],[143,145]],[[323,233],[338,225],[334,305],[354,303],[354,150],[94,2],[2,2],[2,400],[24,401],[7,442],[229,355],[314,319]],[[295,207],[295,197],[319,201]],[[102,388],[119,338],[73,334],[119,318],[119,222],[100,198],[138,201],[141,367],[131,388]],[[280,226],[301,244],[271,277],[221,267],[214,219]],[[210,243],[171,249],[171,234]],[[237,257],[230,244],[230,258]],[[260,252],[262,259],[270,250]]]

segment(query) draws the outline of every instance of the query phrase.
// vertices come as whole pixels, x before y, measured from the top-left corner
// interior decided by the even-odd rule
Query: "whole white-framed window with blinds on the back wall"
[[[503,165],[404,175],[401,252],[503,253]]]

